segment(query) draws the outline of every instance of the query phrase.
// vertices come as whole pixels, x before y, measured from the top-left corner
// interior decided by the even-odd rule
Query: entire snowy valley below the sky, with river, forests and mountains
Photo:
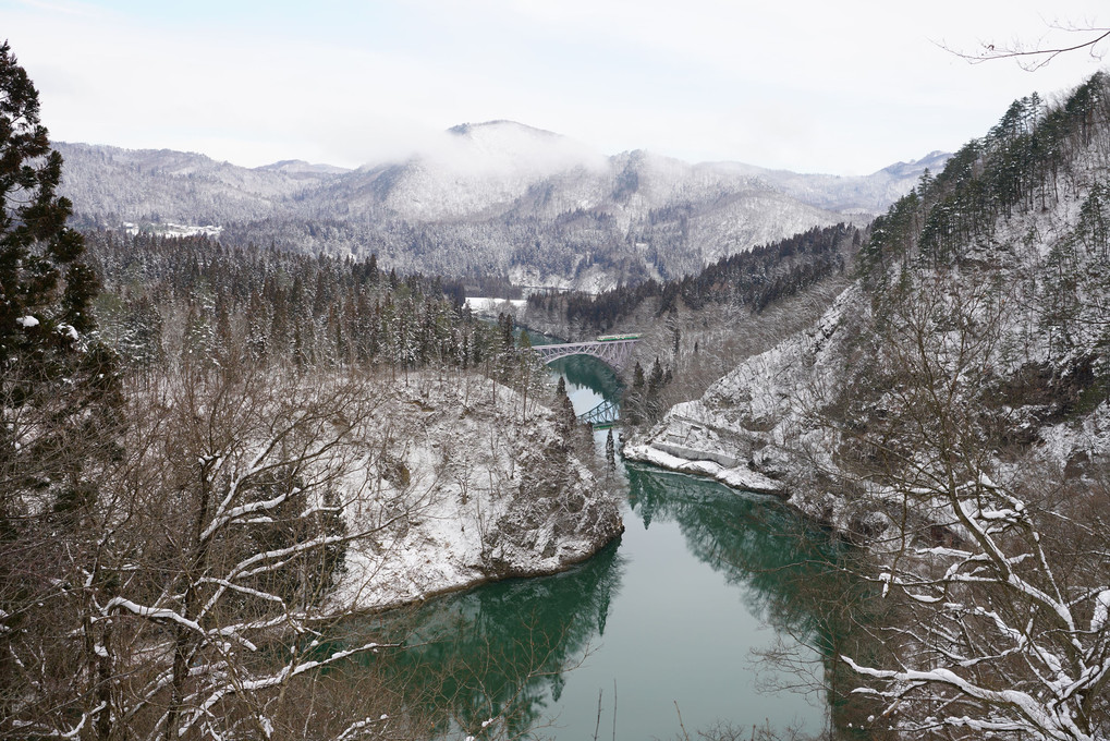
[[[0,72],[4,738],[1110,738],[1106,72],[854,178]]]

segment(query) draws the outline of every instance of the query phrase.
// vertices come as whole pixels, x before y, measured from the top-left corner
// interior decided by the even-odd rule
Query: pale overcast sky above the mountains
[[[404,157],[512,119],[604,153],[648,149],[865,174],[982,136],[1030,73],[938,44],[1110,26],[1106,0],[0,0],[0,39],[51,137],[236,164]],[[1059,34],[1058,34],[1059,37]],[[1072,43],[1074,34],[1046,39]]]

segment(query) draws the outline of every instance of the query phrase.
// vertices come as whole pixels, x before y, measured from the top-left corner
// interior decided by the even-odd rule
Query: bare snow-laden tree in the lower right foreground
[[[1020,415],[996,374],[1007,291],[928,276],[904,276],[877,304],[882,392],[839,430],[886,503],[871,578],[901,613],[876,628],[886,661],[844,660],[884,729],[1106,738],[1110,532],[1091,514],[1107,491],[1064,485],[1015,441]]]

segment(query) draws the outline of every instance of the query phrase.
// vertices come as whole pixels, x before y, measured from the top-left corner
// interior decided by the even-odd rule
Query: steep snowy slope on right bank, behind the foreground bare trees
[[[851,478],[841,470],[841,462],[852,457],[850,441],[837,429],[885,429],[891,410],[899,408],[904,387],[882,383],[905,383],[907,358],[912,359],[916,348],[907,352],[897,344],[908,342],[905,334],[882,333],[897,319],[910,329],[935,323],[920,339],[922,362],[935,364],[935,378],[953,373],[952,388],[960,389],[952,392],[953,409],[979,404],[982,418],[1005,420],[1011,425],[1006,437],[1025,441],[1022,453],[1050,470],[1078,475],[1110,460],[1110,412],[1099,385],[1108,372],[1110,306],[1110,240],[1103,226],[1110,217],[1107,142],[1110,121],[1102,120],[1060,144],[1069,159],[1046,166],[1043,184],[1031,187],[1031,196],[1010,207],[980,202],[973,237],[949,246],[940,258],[925,251],[932,248],[922,247],[930,233],[924,226],[911,239],[881,248],[887,252],[869,282],[857,280],[814,327],[748,358],[703,398],[674,407],[653,430],[633,438],[625,454],[737,488],[780,493],[823,521],[850,530],[851,518],[866,517],[868,505],[857,502],[852,512],[842,492],[834,495],[821,491],[827,481],[813,482],[826,474]],[[998,166],[989,158],[1003,158],[1009,150],[986,141],[961,166],[965,170],[945,173],[946,183],[967,178],[959,198],[983,192],[989,186],[976,179],[988,177],[983,171],[998,178],[990,170]],[[894,167],[889,174],[912,171],[911,166]],[[904,209],[932,207],[917,218],[919,224],[959,218],[952,188],[938,184],[928,198]],[[894,232],[889,223],[877,231]],[[955,230],[932,233],[947,238]],[[891,251],[907,241],[911,246],[901,248],[905,253]],[[901,313],[876,316],[876,306]],[[949,368],[957,361],[971,364]],[[999,399],[1001,405],[995,407]],[[875,493],[874,487],[864,489]]]

